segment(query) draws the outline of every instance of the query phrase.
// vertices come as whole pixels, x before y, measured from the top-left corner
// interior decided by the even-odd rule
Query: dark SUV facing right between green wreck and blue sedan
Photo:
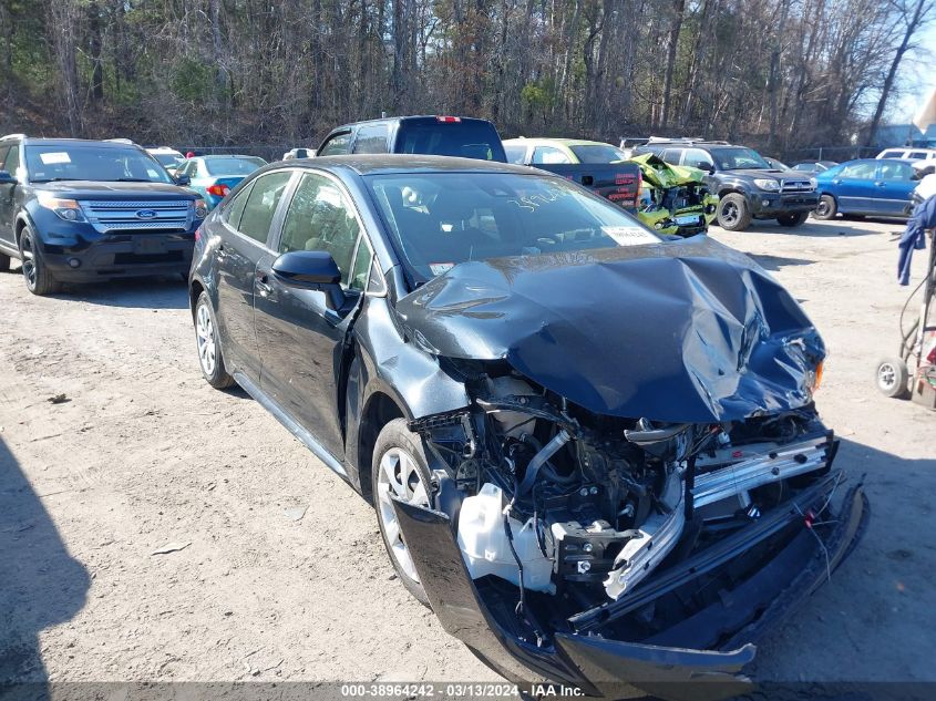
[[[719,196],[717,220],[723,229],[743,230],[752,219],[776,219],[781,226],[800,226],[819,204],[815,178],[796,171],[776,169],[745,146],[651,138],[635,148],[635,153],[652,153],[671,165],[707,172],[706,184]]]

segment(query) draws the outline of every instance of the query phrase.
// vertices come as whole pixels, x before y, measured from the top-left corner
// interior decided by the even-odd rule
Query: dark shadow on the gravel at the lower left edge
[[[73,559],[7,444],[0,440],[0,698],[3,684],[48,679],[39,632],[84,606],[88,571]],[[38,683],[37,683],[38,682]]]

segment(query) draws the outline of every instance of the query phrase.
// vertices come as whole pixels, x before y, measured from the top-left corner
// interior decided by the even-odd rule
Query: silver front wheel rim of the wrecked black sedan
[[[388,549],[393,555],[400,569],[413,581],[419,583],[419,575],[413,559],[400,533],[397,513],[393,511],[391,494],[415,506],[429,506],[429,493],[416,466],[415,458],[400,447],[391,447],[380,457],[377,497],[378,516],[383,527]]]

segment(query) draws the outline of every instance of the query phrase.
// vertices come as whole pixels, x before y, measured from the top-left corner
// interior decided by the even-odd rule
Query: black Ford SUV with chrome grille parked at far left
[[[0,269],[22,260],[33,295],[62,282],[187,277],[207,215],[140,146],[120,141],[0,138]]]

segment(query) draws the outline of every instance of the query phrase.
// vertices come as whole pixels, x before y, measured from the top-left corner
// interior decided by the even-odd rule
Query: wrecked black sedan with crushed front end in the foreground
[[[795,300],[559,177],[274,164],[203,225],[191,300],[206,380],[372,498],[402,584],[514,681],[743,682],[868,516]]]

